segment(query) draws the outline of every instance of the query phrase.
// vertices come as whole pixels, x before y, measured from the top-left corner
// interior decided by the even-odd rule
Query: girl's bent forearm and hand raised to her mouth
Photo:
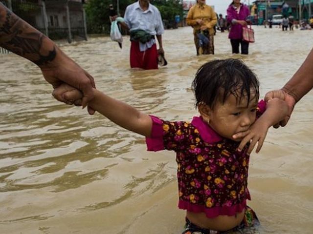
[[[268,128],[285,118],[288,113],[289,107],[285,101],[279,98],[269,100],[266,111],[250,127],[249,133],[242,139],[238,150],[242,151],[246,143],[250,142],[250,146],[247,151],[247,153],[250,154],[256,143],[258,143],[256,153],[259,153],[268,133]]]

